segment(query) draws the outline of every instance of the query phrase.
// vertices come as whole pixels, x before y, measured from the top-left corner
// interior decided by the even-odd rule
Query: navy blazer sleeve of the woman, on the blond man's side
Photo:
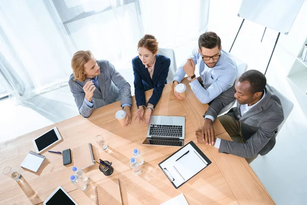
[[[145,90],[144,85],[142,82],[142,77],[139,73],[139,71],[136,69],[136,65],[134,63],[134,60],[132,60],[132,67],[133,67],[133,74],[134,74],[134,86],[135,86],[135,95],[136,95],[136,101],[137,101],[137,107],[139,106],[146,106],[146,100],[145,100]]]

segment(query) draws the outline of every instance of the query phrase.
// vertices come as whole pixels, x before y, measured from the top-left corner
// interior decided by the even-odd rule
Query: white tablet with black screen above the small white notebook
[[[56,127],[33,139],[35,151],[40,153],[62,139]]]

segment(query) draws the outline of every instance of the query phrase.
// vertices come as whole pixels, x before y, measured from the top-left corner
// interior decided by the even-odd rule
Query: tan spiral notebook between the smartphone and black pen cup
[[[95,165],[92,144],[86,144],[73,149],[75,167],[84,169]]]

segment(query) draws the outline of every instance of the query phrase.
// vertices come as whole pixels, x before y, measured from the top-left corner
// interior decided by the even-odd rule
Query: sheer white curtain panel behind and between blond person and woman
[[[139,1],[65,0],[65,4],[67,9],[59,12],[77,50],[91,50],[97,59],[115,64],[131,62],[143,35]]]

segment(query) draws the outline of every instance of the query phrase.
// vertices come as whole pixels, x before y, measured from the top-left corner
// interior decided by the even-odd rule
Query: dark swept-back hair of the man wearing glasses
[[[218,35],[212,31],[208,31],[206,33],[203,33],[199,37],[199,48],[202,50],[202,47],[207,49],[212,49],[215,47],[218,47],[218,49],[221,48],[221,38],[218,37]]]

